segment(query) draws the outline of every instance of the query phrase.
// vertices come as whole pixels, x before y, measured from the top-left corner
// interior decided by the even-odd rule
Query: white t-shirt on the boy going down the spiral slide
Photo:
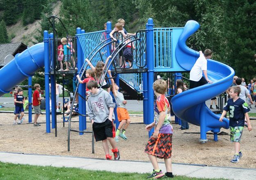
[[[203,76],[203,70],[207,70],[207,60],[201,54],[190,71],[189,79],[198,82]]]

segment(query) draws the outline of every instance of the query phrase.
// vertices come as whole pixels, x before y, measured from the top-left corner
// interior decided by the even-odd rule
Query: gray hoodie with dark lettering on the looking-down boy
[[[97,123],[105,122],[109,118],[109,108],[116,106],[111,95],[102,88],[99,89],[97,94],[91,94],[87,104],[89,119]],[[112,119],[115,119],[114,113]]]

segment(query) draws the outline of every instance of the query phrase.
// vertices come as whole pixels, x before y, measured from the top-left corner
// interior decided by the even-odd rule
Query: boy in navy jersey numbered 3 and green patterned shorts
[[[233,86],[229,90],[230,99],[223,107],[223,112],[220,116],[220,122],[223,117],[229,111],[229,129],[230,129],[230,141],[235,143],[235,155],[230,162],[238,162],[242,158],[242,151],[240,151],[240,139],[242,137],[242,131],[245,125],[245,118],[248,123],[248,130],[251,131],[251,122],[248,115],[250,111],[248,104],[239,98],[241,92],[240,87]]]

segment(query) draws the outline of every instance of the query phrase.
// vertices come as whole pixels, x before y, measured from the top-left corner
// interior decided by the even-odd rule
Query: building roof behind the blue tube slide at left
[[[5,66],[5,57],[9,54],[15,56],[17,53],[23,52],[27,46],[22,42],[0,44],[0,67]]]

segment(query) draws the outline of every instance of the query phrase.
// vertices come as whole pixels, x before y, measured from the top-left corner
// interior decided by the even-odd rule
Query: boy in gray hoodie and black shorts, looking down
[[[103,149],[106,154],[106,159],[110,160],[112,156],[109,155],[109,140],[112,146],[112,152],[114,153],[114,159],[120,159],[120,153],[116,146],[114,137],[116,136],[113,120],[115,116],[113,114],[114,107],[112,97],[107,91],[100,88],[95,80],[91,80],[87,83],[87,88],[91,92],[91,96],[88,98],[88,116],[93,123],[93,133],[96,141],[102,141]]]

